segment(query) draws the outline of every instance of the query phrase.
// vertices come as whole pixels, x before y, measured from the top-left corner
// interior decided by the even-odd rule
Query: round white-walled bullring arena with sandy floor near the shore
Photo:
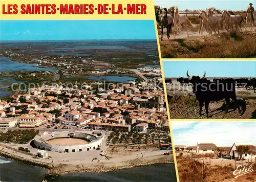
[[[54,152],[82,152],[101,146],[104,134],[85,132],[54,131],[38,133],[34,138],[36,148]]]

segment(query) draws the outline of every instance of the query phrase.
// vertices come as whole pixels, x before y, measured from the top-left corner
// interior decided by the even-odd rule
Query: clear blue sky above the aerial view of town
[[[156,39],[154,20],[0,20],[0,40]]]

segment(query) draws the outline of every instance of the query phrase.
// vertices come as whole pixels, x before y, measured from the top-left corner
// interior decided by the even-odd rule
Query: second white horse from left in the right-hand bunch
[[[207,10],[207,22],[209,26],[209,34],[212,34],[212,31],[216,34],[218,31],[218,35],[220,34],[220,18],[219,16],[214,15],[210,9]]]

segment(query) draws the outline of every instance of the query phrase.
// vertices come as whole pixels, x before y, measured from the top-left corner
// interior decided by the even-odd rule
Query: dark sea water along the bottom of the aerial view
[[[0,181],[42,181],[47,170],[11,161],[0,157]],[[127,168],[102,173],[72,173],[60,175],[51,181],[102,181],[102,182],[132,182],[132,181],[168,181],[176,182],[174,163],[155,164],[136,168]]]

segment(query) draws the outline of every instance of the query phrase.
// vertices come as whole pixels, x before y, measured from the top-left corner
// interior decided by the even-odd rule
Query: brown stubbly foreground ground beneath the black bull
[[[255,119],[256,118],[256,97],[238,94],[238,97],[245,99],[245,106],[241,104],[241,109],[245,110],[240,115],[234,104],[225,113],[226,103],[224,100],[209,103],[210,119]],[[168,105],[171,119],[203,119],[205,118],[205,107],[203,105],[202,116],[199,116],[199,102],[195,96],[173,95],[168,96]]]

